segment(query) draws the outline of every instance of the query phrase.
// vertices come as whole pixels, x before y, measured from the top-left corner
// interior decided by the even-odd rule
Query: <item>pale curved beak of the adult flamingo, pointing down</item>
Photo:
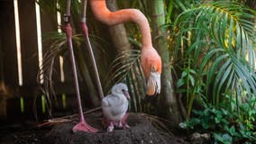
[[[152,71],[147,81],[147,95],[160,94],[160,73]]]

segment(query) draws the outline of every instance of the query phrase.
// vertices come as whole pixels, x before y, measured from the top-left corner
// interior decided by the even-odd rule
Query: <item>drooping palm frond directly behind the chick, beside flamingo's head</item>
[[[140,64],[141,50],[131,49],[120,53],[112,62],[105,76],[105,94],[120,82],[129,87],[133,112],[142,112],[142,98],[145,95],[145,78]]]

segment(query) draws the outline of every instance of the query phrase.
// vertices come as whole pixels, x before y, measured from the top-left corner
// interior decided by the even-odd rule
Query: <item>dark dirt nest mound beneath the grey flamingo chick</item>
[[[88,116],[87,116],[88,117]],[[91,119],[90,119],[91,120]],[[87,120],[90,125],[99,130],[97,133],[72,132],[75,122],[66,122],[55,126],[45,136],[45,144],[187,144],[168,133],[157,130],[151,125],[142,113],[131,113],[127,130],[114,130],[106,132],[101,119],[95,117],[93,121]]]

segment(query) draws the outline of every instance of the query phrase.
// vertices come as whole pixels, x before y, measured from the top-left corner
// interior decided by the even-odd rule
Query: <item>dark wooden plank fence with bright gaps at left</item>
[[[0,82],[2,87],[0,89],[0,115],[2,117],[6,117],[6,115],[8,117],[24,115],[33,118],[34,112],[42,115],[45,113],[44,98],[37,83],[39,51],[35,1],[17,0],[21,40],[22,85],[19,83],[18,74],[14,1],[0,0]],[[41,11],[41,35],[58,29],[58,23],[50,20],[50,16],[52,15]],[[42,54],[48,49],[50,49],[50,46],[42,43]],[[74,89],[72,88],[69,58],[64,58],[65,82],[60,81],[59,60],[56,61],[56,66],[54,66],[55,76],[53,77],[56,92],[59,95],[58,99],[62,102],[59,108],[73,108],[76,103],[73,103],[75,102]],[[37,97],[36,109],[33,107],[35,97]]]

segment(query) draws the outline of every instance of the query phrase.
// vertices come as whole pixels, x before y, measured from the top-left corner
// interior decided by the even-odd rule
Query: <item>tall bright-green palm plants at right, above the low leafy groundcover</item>
[[[178,92],[187,95],[187,117],[195,99],[218,105],[224,94],[256,92],[255,11],[237,2],[175,4],[183,11],[172,26]],[[195,80],[195,82],[194,82]]]

